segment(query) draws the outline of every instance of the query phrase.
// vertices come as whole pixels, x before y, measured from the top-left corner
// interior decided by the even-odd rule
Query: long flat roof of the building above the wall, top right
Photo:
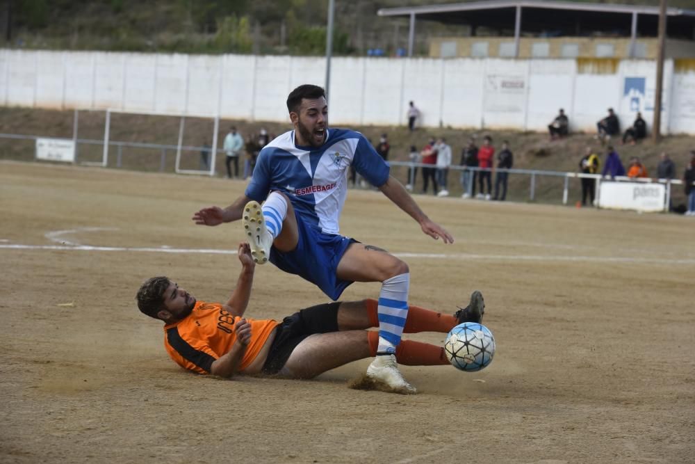
[[[659,8],[571,1],[489,0],[382,8],[377,11],[377,15],[409,17],[411,35],[417,18],[445,24],[467,24],[473,28],[483,26],[499,31],[512,31],[514,35],[605,33],[635,38],[657,35]],[[695,10],[667,8],[667,31],[671,38],[694,40]]]

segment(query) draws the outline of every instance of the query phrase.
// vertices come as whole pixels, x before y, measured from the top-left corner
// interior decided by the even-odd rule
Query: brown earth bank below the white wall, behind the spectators
[[[0,133],[27,134],[49,136],[59,138],[72,138],[72,111],[49,111],[32,109],[0,108]],[[273,122],[247,122],[247,121],[222,121],[220,122],[220,134],[218,146],[222,145],[222,139],[227,133],[229,125],[238,127],[243,136],[257,134],[261,127],[270,134],[281,134],[289,129],[289,124],[284,125]],[[211,120],[188,118],[186,131],[183,137],[183,145],[201,147],[211,141]],[[529,170],[548,170],[559,172],[575,172],[578,162],[587,146],[591,146],[600,154],[605,149],[594,140],[593,134],[573,134],[562,141],[548,141],[546,134],[518,131],[472,131],[459,129],[418,129],[410,134],[407,127],[354,127],[365,134],[373,143],[377,143],[381,134],[389,134],[391,143],[391,161],[407,161],[409,147],[415,145],[418,150],[427,143],[427,138],[443,136],[452,146],[453,162],[459,163],[461,148],[471,136],[489,134],[493,137],[494,145],[499,147],[502,140],[509,141],[509,147],[514,152],[514,168]],[[179,118],[167,118],[147,115],[112,115],[111,141],[158,143],[163,145],[177,145],[179,130]],[[102,141],[104,139],[104,113],[83,111],[79,118],[79,138]],[[695,138],[689,136],[670,136],[664,138],[658,145],[646,140],[635,146],[620,145],[614,141],[621,155],[623,163],[627,165],[630,157],[640,157],[651,175],[655,175],[659,162],[659,154],[665,151],[670,154],[676,163],[678,175],[682,175],[685,164],[689,160],[689,151],[695,150]],[[117,166],[117,148],[111,147],[109,167]],[[102,145],[80,144],[79,161],[101,161]],[[161,150],[151,148],[122,149],[120,168],[129,170],[156,171],[161,168]],[[174,172],[175,150],[165,152],[165,172]],[[15,159],[32,161],[34,159],[34,144],[31,140],[13,140],[0,138],[0,159]],[[184,153],[183,167],[198,169],[199,149],[195,148]],[[224,156],[218,154],[218,175],[224,175]],[[402,167],[394,167],[393,173],[404,184],[407,182],[407,170]],[[452,171],[449,176],[449,190],[452,195],[461,194],[461,186],[458,182],[458,174]],[[420,179],[416,191],[420,189]],[[559,203],[562,200],[562,177],[537,177],[535,200],[539,202]],[[530,177],[528,175],[512,175],[509,179],[509,200],[529,200]],[[580,185],[577,179],[572,179],[570,184],[569,204],[580,199]],[[677,186],[673,191],[674,205],[685,202],[682,188]]]

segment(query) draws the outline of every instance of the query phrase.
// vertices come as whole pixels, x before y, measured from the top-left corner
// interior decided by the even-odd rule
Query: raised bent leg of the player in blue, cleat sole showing
[[[254,261],[264,264],[270,247],[288,252],[297,248],[297,218],[290,200],[278,191],[270,192],[263,205],[250,201],[244,207],[243,226],[249,238]]]

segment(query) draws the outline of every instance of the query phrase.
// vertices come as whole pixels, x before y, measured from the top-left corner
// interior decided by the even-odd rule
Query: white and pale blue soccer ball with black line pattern
[[[444,351],[453,367],[461,371],[480,371],[492,362],[495,337],[482,324],[460,323],[446,336]]]

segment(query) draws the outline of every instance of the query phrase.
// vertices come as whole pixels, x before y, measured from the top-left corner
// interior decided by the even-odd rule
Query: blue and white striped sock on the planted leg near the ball
[[[405,320],[408,317],[408,291],[410,273],[384,280],[379,292],[377,315],[379,317],[379,346],[377,354],[395,353],[400,343]]]

